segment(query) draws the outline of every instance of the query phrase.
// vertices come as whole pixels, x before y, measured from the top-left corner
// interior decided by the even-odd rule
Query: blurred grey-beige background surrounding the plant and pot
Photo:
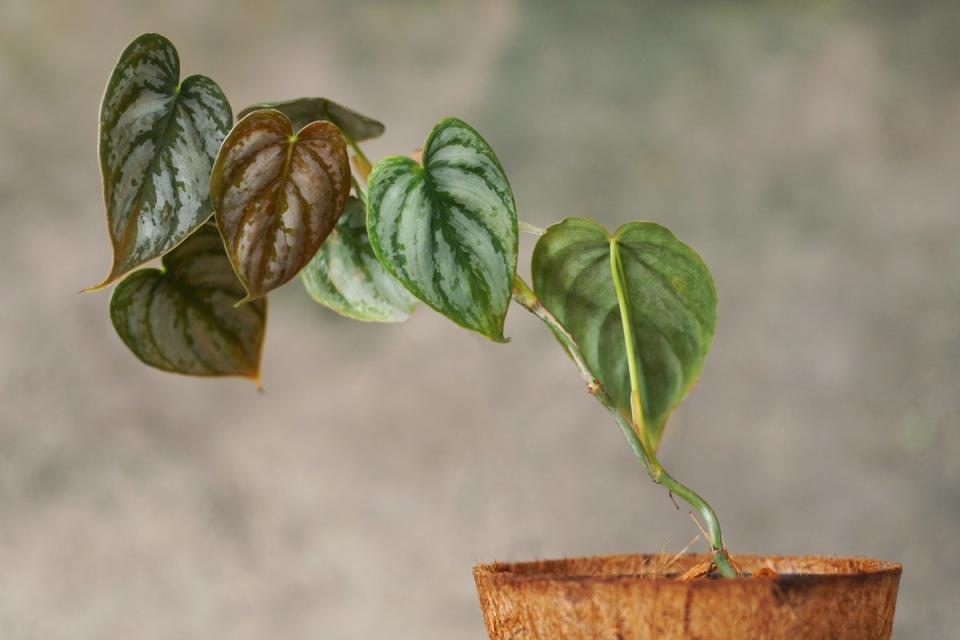
[[[249,103],[457,115],[522,219],[670,226],[719,328],[662,458],[734,553],[904,563],[898,638],[960,628],[960,4],[0,2],[0,637],[485,637],[477,561],[696,534],[531,316],[272,296],[263,380],[142,366],[109,294],[97,109],[129,40]],[[521,272],[528,273],[531,236]],[[694,549],[702,550],[698,542]]]

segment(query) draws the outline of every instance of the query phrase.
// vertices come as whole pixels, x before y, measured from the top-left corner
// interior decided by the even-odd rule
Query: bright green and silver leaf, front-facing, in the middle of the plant
[[[430,132],[423,166],[377,162],[367,230],[380,262],[417,298],[457,324],[505,342],[517,269],[517,214],[507,176],[470,125]]]

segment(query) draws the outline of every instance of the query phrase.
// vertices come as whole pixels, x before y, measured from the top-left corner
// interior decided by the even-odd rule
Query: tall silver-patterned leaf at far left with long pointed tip
[[[202,225],[210,168],[233,112],[204,76],[180,83],[173,44],[147,33],[120,56],[100,107],[100,172],[113,265],[98,287],[162,256]]]

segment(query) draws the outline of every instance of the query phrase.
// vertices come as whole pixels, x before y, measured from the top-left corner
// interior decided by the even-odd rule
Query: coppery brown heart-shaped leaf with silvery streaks
[[[294,135],[279,111],[254,111],[223,141],[210,193],[244,301],[259,298],[297,275],[336,225],[350,193],[346,143],[329,122]]]

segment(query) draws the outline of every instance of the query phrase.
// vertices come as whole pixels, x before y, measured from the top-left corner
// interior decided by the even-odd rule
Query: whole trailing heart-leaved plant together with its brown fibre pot
[[[487,630],[522,638],[887,638],[900,566],[864,558],[732,557],[716,513],[657,451],[695,383],[717,293],[693,249],[653,222],[518,221],[507,176],[465,122],[422,153],[371,164],[384,131],[323,98],[238,114],[207,77],[180,80],[157,34],[120,56],[100,111],[117,283],[110,317],[146,364],[259,383],[267,295],[299,275],[343,315],[405,320],[418,302],[504,343],[511,301],[570,357],[653,481],[690,505],[705,556],[631,555],[474,569]],[[351,169],[351,161],[353,168]],[[519,231],[537,236],[531,284]],[[161,259],[161,268],[140,268]]]

